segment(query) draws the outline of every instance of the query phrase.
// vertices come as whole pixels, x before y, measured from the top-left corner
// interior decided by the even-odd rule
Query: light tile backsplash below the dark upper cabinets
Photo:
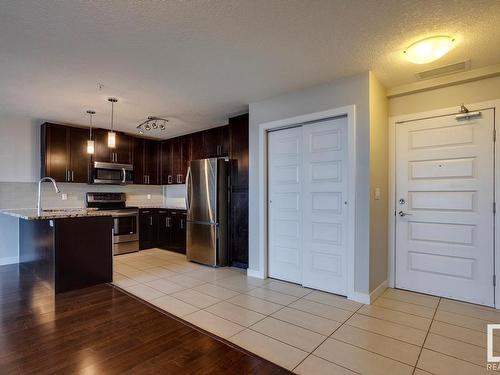
[[[127,194],[127,205],[163,205],[166,203],[166,189],[159,185],[88,185],[75,183],[58,183],[61,193],[68,199],[62,200],[56,194],[50,182],[42,184],[42,202],[44,208],[76,208],[85,207],[85,193],[124,192]],[[0,209],[34,208],[36,207],[38,184],[33,182],[0,182]],[[151,199],[147,199],[148,194]],[[164,196],[165,194],[165,196]],[[173,198],[174,200],[177,198]],[[182,198],[182,200],[184,200]]]

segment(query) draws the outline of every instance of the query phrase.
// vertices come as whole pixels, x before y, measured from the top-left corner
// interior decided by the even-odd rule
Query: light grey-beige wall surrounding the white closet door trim
[[[342,78],[334,82],[280,95],[250,104],[250,212],[249,212],[249,268],[262,272],[259,218],[262,210],[259,190],[259,125],[308,113],[325,111],[354,104],[356,106],[356,292],[369,292],[369,110],[368,72]]]

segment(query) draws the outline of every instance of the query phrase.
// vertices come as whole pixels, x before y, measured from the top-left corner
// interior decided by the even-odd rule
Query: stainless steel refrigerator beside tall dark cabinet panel
[[[187,259],[226,266],[228,161],[192,160],[186,176]]]

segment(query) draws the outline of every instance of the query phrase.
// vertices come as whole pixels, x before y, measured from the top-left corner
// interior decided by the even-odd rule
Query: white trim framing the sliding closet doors
[[[267,212],[267,131],[306,122],[324,120],[331,117],[347,116],[348,159],[350,202],[348,212],[348,256],[347,256],[347,298],[357,299],[354,291],[354,249],[355,249],[355,197],[356,197],[356,120],[355,106],[345,106],[326,111],[262,123],[259,125],[259,271],[248,270],[249,276],[265,279],[268,277],[268,212]]]

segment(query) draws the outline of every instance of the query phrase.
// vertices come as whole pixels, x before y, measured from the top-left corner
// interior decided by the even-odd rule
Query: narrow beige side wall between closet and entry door
[[[370,292],[387,280],[388,102],[385,88],[370,72]],[[375,199],[375,189],[380,199]]]

